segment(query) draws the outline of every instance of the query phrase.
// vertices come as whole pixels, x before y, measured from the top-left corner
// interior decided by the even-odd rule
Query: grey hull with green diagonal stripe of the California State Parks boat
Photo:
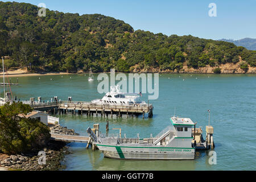
[[[137,160],[193,160],[195,148],[97,145],[106,158]]]

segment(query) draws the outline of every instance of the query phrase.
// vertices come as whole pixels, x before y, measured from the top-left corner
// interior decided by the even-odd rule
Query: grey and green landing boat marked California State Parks
[[[172,117],[171,124],[154,138],[120,138],[115,134],[88,134],[106,158],[113,159],[195,159],[192,128],[189,118]]]

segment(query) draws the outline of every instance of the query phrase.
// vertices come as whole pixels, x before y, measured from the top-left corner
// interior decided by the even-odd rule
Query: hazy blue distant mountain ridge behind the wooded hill
[[[256,51],[256,39],[252,38],[244,38],[240,40],[232,40],[232,39],[221,39],[221,41],[234,43],[236,46],[242,46],[246,49]]]

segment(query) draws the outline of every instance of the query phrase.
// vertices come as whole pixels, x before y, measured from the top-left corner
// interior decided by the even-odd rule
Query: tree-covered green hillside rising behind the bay
[[[256,66],[256,51],[233,43],[153,34],[137,30],[122,20],[100,14],[46,12],[28,3],[0,2],[0,56],[7,67],[27,67],[31,72],[130,72],[159,68],[172,71],[188,67],[238,63]]]

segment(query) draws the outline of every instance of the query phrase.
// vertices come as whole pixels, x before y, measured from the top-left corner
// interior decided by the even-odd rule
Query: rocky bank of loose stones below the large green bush
[[[38,152],[45,152],[46,164],[39,164]],[[0,167],[19,171],[57,171],[65,168],[61,165],[64,155],[69,154],[64,142],[50,141],[44,148],[34,149],[26,154],[6,155],[0,153]],[[42,160],[41,160],[42,161]]]

